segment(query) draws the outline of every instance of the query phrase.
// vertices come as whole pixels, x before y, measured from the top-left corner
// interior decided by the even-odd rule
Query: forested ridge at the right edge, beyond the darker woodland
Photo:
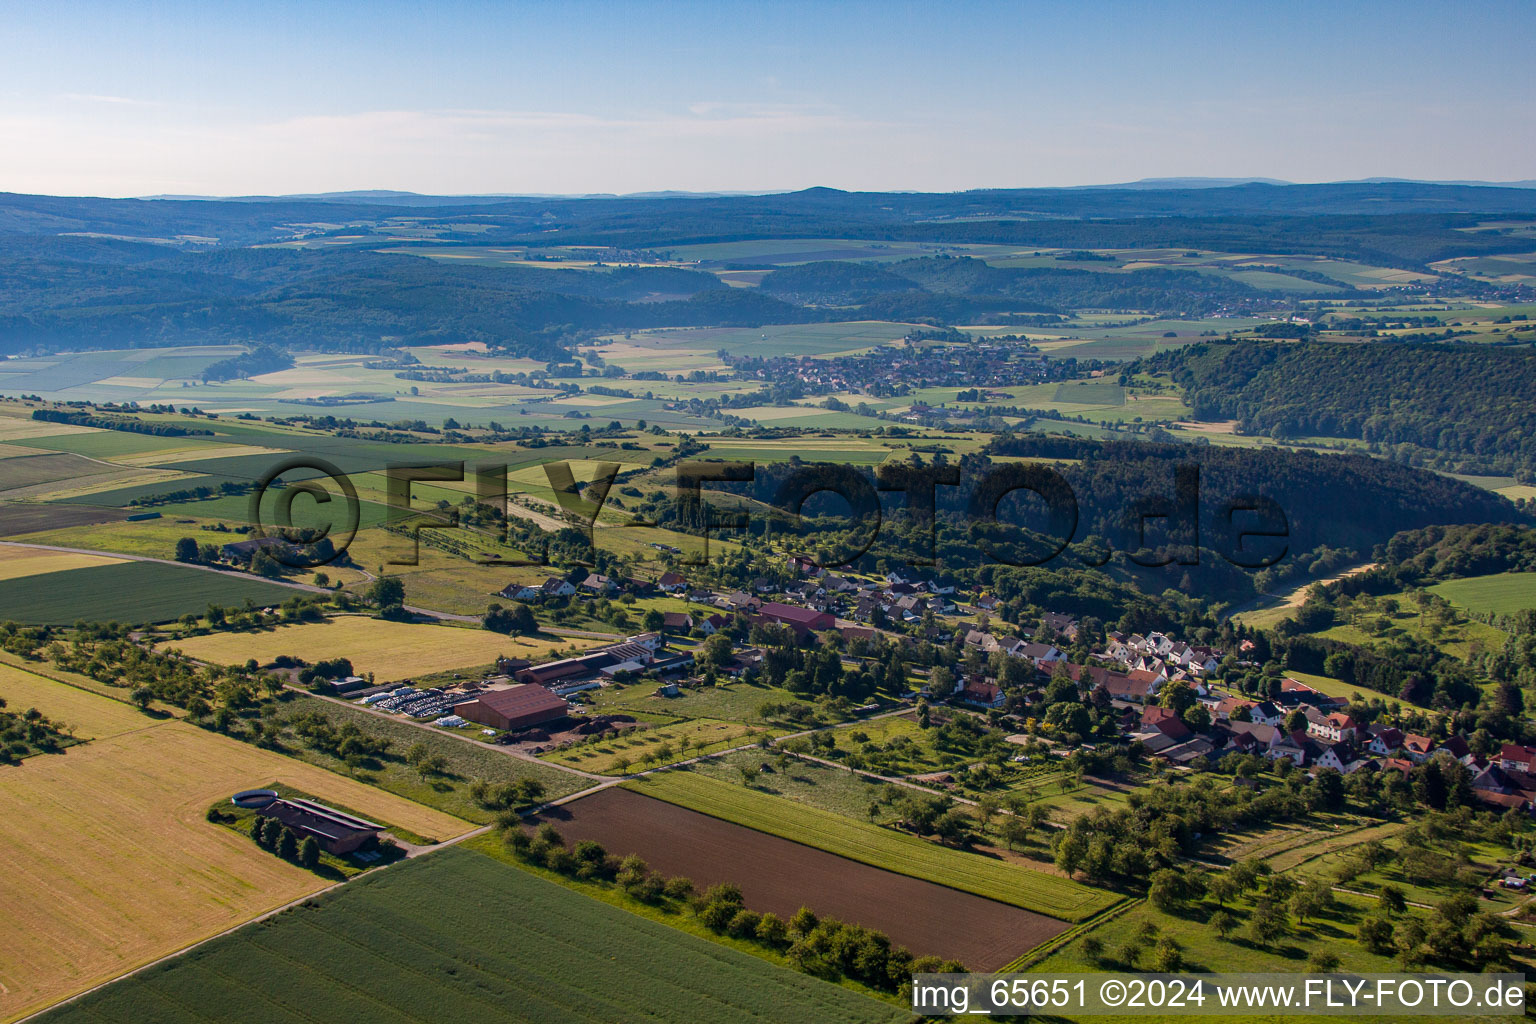
[[[1421,344],[1227,341],[1158,353],[1195,419],[1272,438],[1359,438],[1536,471],[1536,353]],[[1470,467],[1470,468],[1479,468]]]

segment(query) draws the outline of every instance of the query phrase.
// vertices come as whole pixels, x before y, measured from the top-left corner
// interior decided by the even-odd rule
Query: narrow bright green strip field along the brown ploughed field
[[[691,808],[759,832],[1063,921],[1081,921],[1118,900],[1111,892],[1089,889],[1066,878],[965,854],[740,785],[707,778],[697,772],[660,772],[624,785],[647,797]]]

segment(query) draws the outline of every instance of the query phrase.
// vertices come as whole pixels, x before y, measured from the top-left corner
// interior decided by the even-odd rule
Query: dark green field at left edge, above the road
[[[0,590],[0,622],[167,622],[212,605],[281,605],[298,591],[235,573],[120,562],[29,576]]]

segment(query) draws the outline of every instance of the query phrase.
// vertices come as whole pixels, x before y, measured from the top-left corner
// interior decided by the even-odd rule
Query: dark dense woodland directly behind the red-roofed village
[[[1054,519],[1029,491],[1005,496],[992,522],[985,496],[1000,493],[998,482],[1015,470],[989,456],[1075,459],[1049,470],[1060,474],[1055,485],[1071,491],[1075,522]],[[1187,530],[1186,505],[1177,500],[1180,467],[1186,474],[1198,468],[1198,536]],[[707,484],[705,494],[720,497],[705,507],[679,505],[657,491],[641,514],[671,528],[697,530],[703,516],[719,520],[725,505],[746,499],[751,533],[794,537],[786,543],[817,553],[828,565],[852,560],[879,570],[937,559],[940,573],[986,585],[1005,600],[1021,597],[1029,605],[1104,620],[1118,620],[1129,609],[1135,613],[1134,629],[1177,619],[1180,596],[1247,600],[1296,563],[1338,565],[1405,530],[1527,522],[1504,497],[1461,481],[1382,459],[1284,448],[1026,434],[1001,438],[986,454],[966,456],[948,468],[958,470],[960,482],[937,487],[931,527],[905,511],[900,491],[877,491],[872,474],[803,462],[757,465],[750,482]],[[808,496],[803,505],[802,496]],[[1227,508],[1247,496],[1267,499],[1270,511],[1240,511],[1229,520]],[[714,504],[720,508],[710,513]],[[782,514],[797,507],[799,520]],[[1149,519],[1138,536],[1143,511]],[[1175,513],[1172,520],[1161,517],[1167,511]],[[1270,528],[1287,534],[1236,537]],[[1064,545],[1068,536],[1071,543]]]

